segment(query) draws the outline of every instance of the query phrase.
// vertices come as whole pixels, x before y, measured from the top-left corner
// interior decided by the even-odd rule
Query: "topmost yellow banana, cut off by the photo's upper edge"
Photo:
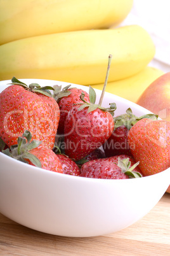
[[[56,32],[99,29],[119,23],[133,0],[0,0],[0,45]]]

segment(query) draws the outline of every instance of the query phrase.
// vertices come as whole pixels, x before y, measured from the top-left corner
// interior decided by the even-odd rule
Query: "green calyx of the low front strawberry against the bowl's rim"
[[[116,164],[116,163],[115,163]],[[140,164],[140,161],[136,162],[133,166],[131,166],[131,161],[129,158],[121,159],[118,157],[117,166],[121,168],[122,172],[129,176],[129,178],[141,178],[141,173],[137,171],[133,171],[136,166]],[[131,167],[130,167],[131,166]]]

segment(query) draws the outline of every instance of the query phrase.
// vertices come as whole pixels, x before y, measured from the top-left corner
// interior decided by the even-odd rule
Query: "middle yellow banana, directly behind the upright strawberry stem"
[[[108,82],[140,72],[155,54],[145,29],[73,31],[20,39],[0,46],[0,80],[42,78],[93,85],[103,83],[108,55]]]

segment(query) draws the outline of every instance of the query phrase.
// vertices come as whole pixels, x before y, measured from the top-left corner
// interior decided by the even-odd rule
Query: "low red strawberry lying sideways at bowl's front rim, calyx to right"
[[[80,176],[115,180],[139,178],[141,177],[141,174],[133,171],[138,164],[139,163],[137,162],[134,166],[131,166],[129,158],[121,159],[119,156],[114,162],[109,161],[108,159],[92,160],[83,164]]]

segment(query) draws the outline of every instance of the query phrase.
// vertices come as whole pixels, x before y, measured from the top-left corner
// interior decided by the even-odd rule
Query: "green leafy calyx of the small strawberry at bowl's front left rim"
[[[42,141],[32,140],[32,135],[29,131],[23,132],[22,137],[18,137],[18,144],[12,145],[10,148],[3,150],[2,153],[12,157],[16,160],[20,160],[21,162],[25,162],[28,164],[28,161],[25,159],[29,159],[34,166],[41,167],[41,161],[29,151],[37,148],[41,145]]]

